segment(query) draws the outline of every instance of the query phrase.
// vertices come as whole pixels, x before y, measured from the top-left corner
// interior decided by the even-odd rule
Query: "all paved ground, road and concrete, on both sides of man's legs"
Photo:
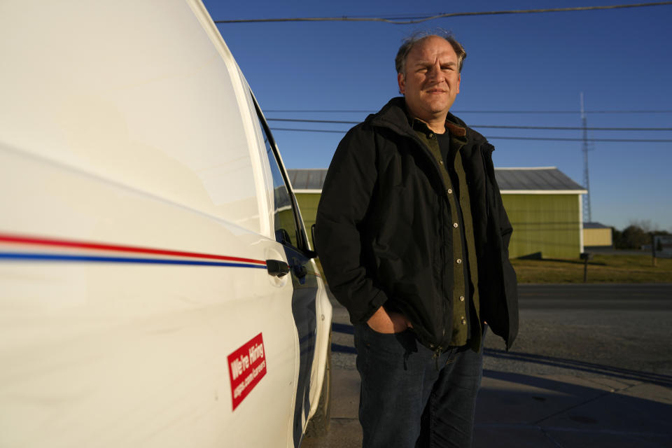
[[[332,303],[331,429],[302,448],[361,446],[352,327]],[[521,285],[520,307],[509,352],[486,337],[475,448],[672,447],[672,284]]]

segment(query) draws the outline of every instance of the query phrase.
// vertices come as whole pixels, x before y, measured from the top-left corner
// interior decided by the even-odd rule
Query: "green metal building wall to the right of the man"
[[[510,258],[541,253],[545,258],[578,258],[578,195],[502,195],[513,226]]]

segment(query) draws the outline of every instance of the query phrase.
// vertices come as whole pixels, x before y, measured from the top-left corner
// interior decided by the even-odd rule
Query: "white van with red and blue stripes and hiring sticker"
[[[332,309],[202,3],[3,1],[0,64],[0,446],[328,423]]]

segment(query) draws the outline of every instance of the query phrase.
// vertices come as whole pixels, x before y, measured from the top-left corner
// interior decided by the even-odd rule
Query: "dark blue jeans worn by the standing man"
[[[485,335],[483,335],[485,337]],[[483,350],[435,353],[412,330],[355,325],[364,448],[470,447]]]

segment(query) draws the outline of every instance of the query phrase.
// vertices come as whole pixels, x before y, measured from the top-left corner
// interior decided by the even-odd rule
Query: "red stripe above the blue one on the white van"
[[[151,253],[153,255],[174,255],[178,257],[207,258],[209,260],[228,260],[228,261],[254,263],[256,265],[266,265],[266,262],[264,260],[229,257],[227,255],[214,255],[210,253],[183,252],[183,251],[167,251],[165,249],[155,249],[139,246],[119,246],[117,244],[99,244],[87,241],[29,237],[25,235],[9,235],[5,233],[0,233],[0,242],[15,243],[15,244],[33,244],[37,246],[74,247],[74,248],[102,250],[102,251]]]

